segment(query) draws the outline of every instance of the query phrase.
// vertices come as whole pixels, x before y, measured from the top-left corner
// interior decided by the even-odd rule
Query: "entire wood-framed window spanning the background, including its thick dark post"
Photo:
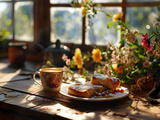
[[[9,31],[7,39],[38,42],[47,47],[60,39],[62,43],[106,46],[119,44],[120,31],[107,29],[111,21],[103,13],[90,19],[82,17],[72,0],[0,0],[0,30]],[[79,0],[82,1],[82,0]],[[160,0],[93,0],[112,15],[122,11],[123,22],[145,33],[160,16]],[[147,28],[146,28],[147,26]],[[86,27],[86,28],[85,28]],[[44,42],[45,41],[45,42]]]

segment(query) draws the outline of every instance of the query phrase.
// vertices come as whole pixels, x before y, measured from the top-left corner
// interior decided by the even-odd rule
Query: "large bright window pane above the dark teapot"
[[[82,17],[78,8],[51,8],[51,41],[81,43]]]

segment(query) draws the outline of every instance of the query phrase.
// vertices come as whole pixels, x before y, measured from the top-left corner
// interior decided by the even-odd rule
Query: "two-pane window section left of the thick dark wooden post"
[[[33,41],[33,0],[0,0],[0,20],[8,39]]]

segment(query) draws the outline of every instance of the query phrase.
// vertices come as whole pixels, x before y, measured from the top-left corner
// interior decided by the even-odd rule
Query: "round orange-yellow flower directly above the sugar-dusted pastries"
[[[100,50],[98,48],[97,49],[93,49],[93,51],[92,51],[92,59],[95,62],[100,62],[100,60],[102,59]]]

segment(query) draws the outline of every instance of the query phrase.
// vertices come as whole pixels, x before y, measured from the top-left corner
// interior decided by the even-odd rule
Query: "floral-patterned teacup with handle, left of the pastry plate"
[[[37,81],[36,75],[40,76],[41,83]],[[43,87],[44,90],[58,92],[63,77],[63,69],[61,68],[42,68],[33,75],[34,81]]]

